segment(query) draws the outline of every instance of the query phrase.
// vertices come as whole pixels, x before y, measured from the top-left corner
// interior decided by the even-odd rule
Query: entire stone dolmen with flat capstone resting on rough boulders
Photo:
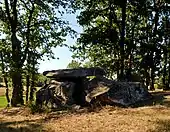
[[[96,69],[81,68],[44,72],[44,75],[55,80],[36,93],[37,105],[51,104],[52,107],[59,107],[100,102],[108,105],[130,106],[152,97],[141,83],[109,80],[102,76],[104,70]],[[93,73],[95,70],[98,72]],[[96,77],[88,80],[86,76],[91,75]]]

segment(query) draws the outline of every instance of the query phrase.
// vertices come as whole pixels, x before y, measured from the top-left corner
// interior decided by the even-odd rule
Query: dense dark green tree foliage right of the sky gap
[[[73,58],[106,69],[108,77],[119,77],[123,68],[127,78],[139,74],[152,89],[155,77],[164,78],[168,87],[170,8],[166,2],[127,0],[125,5],[126,1],[77,1],[83,7],[77,18],[84,32],[71,47]]]

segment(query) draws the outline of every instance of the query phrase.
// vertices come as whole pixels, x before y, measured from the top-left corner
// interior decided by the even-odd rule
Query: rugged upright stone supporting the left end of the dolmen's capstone
[[[60,107],[73,104],[73,82],[57,82],[52,80],[36,92],[36,104],[49,107]]]

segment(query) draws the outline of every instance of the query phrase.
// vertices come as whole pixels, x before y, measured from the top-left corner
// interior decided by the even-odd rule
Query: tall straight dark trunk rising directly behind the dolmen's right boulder
[[[121,56],[121,67],[120,67],[120,79],[124,78],[124,41],[125,41],[125,30],[126,30],[126,4],[127,0],[122,6],[122,30],[120,40],[120,56]]]

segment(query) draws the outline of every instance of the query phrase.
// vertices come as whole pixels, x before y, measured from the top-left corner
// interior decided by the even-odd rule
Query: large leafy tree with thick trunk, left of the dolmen
[[[31,62],[35,69],[37,58],[41,59],[45,54],[51,56],[51,47],[61,45],[67,33],[72,32],[68,23],[58,17],[65,10],[70,12],[72,4],[73,1],[67,0],[4,0],[0,3],[2,31],[11,44],[12,106],[24,103],[22,72],[25,63]]]

